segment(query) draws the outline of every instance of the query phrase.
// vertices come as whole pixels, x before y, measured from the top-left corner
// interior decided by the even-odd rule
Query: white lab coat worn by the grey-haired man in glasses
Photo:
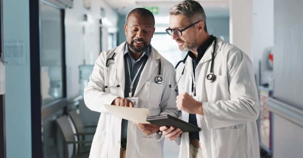
[[[196,95],[202,102],[204,116],[196,114],[203,158],[259,158],[256,119],[259,115],[258,93],[252,62],[239,48],[217,38],[213,73],[208,82],[214,42],[195,69]],[[192,59],[188,56],[184,75],[178,83],[179,94],[191,94]],[[178,66],[176,79],[183,65]],[[189,114],[182,111],[182,120]],[[189,157],[189,134],[183,133],[179,158]]]

